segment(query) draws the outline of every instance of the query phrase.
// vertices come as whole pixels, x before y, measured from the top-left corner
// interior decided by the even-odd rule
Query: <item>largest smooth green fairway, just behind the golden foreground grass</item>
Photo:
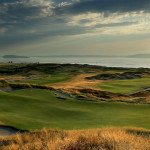
[[[20,129],[132,126],[150,129],[150,105],[61,100],[48,90],[0,92],[0,121]]]

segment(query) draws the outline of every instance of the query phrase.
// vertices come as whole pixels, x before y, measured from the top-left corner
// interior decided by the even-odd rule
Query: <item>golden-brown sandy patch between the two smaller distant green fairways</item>
[[[53,84],[52,87],[55,89],[75,89],[75,88],[92,88],[96,84],[100,83],[101,81],[92,81],[86,80],[86,77],[93,76],[95,74],[80,74],[73,77],[71,80],[63,82],[63,83],[56,83]]]

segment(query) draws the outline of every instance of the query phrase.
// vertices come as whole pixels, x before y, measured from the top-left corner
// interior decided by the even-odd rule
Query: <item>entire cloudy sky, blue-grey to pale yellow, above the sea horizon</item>
[[[150,53],[150,0],[0,0],[0,55]]]

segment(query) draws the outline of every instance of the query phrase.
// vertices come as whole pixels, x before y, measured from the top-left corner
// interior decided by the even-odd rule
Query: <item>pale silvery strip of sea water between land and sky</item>
[[[49,56],[49,57],[30,57],[4,59],[0,57],[0,62],[13,61],[15,63],[71,63],[71,64],[90,64],[107,67],[129,67],[129,68],[150,68],[149,58],[127,58],[98,56]]]

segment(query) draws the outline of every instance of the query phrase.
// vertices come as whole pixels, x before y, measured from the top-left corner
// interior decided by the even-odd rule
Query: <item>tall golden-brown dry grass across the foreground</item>
[[[119,128],[43,129],[1,138],[0,150],[150,150],[150,131]]]

